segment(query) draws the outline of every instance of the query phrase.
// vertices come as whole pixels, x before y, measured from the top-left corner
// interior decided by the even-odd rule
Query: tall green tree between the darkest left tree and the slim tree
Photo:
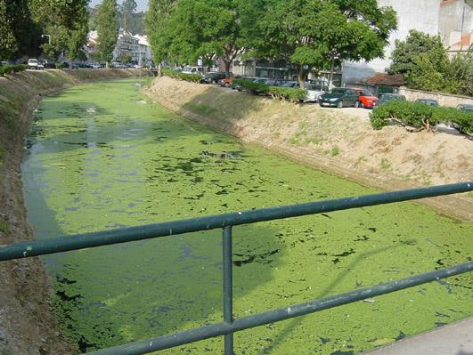
[[[72,66],[87,41],[87,4],[88,0],[31,0],[34,19],[50,36],[42,45],[48,56],[64,53]]]

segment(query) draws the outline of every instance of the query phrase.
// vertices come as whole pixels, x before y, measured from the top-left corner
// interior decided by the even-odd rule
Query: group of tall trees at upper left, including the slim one
[[[89,0],[0,0],[0,59],[41,52],[52,59],[60,55],[86,60]],[[117,43],[117,2],[103,0],[95,21],[98,31],[98,59],[110,61]],[[135,12],[135,0],[125,0],[123,21]]]

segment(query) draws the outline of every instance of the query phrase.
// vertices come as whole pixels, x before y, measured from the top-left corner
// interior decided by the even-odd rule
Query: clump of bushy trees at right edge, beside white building
[[[390,74],[403,74],[412,89],[473,96],[473,46],[449,60],[440,36],[412,29],[396,41]]]

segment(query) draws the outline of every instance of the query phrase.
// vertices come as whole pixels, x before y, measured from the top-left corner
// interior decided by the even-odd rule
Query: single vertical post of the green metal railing
[[[224,231],[224,322],[233,321],[232,226]],[[233,355],[233,333],[224,335],[224,355]]]

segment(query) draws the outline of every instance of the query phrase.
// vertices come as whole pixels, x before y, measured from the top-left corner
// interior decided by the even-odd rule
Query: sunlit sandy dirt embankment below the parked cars
[[[157,78],[145,93],[218,131],[382,190],[473,180],[473,141],[453,131],[375,131],[365,109],[322,109],[169,77]],[[473,221],[471,193],[422,202]]]

